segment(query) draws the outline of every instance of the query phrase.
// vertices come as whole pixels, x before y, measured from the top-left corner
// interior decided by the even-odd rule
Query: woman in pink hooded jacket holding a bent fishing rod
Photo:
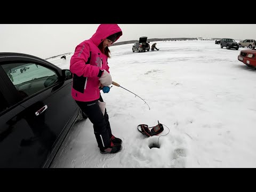
[[[109,46],[122,36],[117,24],[101,24],[95,34],[76,46],[70,59],[73,73],[72,97],[93,124],[95,138],[101,154],[117,153],[122,149],[122,140],[111,132],[105,102],[99,87],[112,83],[109,74]]]

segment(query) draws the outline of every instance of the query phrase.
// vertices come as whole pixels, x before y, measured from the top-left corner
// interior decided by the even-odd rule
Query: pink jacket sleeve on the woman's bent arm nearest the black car
[[[97,77],[100,68],[86,64],[90,58],[90,47],[86,43],[82,43],[76,46],[75,53],[70,59],[70,71],[77,76],[84,77]]]

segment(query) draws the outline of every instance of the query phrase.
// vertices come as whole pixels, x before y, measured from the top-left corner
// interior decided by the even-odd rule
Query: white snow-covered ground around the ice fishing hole
[[[121,87],[102,93],[122,151],[100,154],[87,119],[75,124],[52,167],[256,167],[256,70],[237,60],[246,48],[156,43],[159,51],[145,53],[133,53],[132,44],[110,47],[113,81],[150,106]],[[71,55],[49,61],[69,69]],[[157,121],[165,125],[160,138],[137,130]]]

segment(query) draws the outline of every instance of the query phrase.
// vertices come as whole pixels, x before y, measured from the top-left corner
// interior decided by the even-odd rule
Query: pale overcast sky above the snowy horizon
[[[256,39],[256,24],[118,24],[118,42],[148,38]],[[21,52],[43,59],[74,52],[99,24],[0,24],[0,52]]]

